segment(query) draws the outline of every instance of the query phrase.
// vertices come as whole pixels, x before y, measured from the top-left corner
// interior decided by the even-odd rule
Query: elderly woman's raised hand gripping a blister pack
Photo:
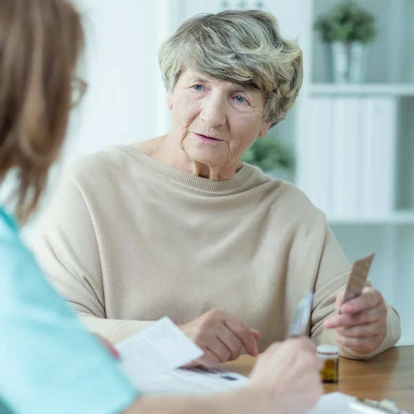
[[[370,353],[382,344],[386,335],[384,299],[378,290],[364,288],[362,295],[342,304],[344,293],[337,295],[335,315],[326,319],[324,326],[337,331],[339,344]]]

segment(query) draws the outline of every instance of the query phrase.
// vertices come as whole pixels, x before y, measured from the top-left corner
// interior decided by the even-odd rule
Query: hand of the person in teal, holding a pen
[[[269,407],[265,412],[276,412],[277,405],[277,413],[304,413],[322,395],[321,368],[311,339],[288,339],[273,344],[259,357],[250,374],[251,386],[264,394]]]

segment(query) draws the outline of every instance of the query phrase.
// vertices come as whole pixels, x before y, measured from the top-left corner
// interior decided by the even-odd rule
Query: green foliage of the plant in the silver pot
[[[342,1],[315,22],[324,41],[371,43],[377,34],[375,17],[352,0]]]

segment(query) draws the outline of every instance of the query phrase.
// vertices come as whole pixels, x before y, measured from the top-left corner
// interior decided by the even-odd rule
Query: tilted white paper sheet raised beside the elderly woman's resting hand
[[[145,384],[204,355],[168,317],[117,344],[119,364],[142,390]]]

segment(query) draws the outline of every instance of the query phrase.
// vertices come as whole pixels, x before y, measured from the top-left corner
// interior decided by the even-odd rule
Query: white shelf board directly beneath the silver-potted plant
[[[414,97],[412,83],[311,83],[308,85],[311,95],[386,95]]]

